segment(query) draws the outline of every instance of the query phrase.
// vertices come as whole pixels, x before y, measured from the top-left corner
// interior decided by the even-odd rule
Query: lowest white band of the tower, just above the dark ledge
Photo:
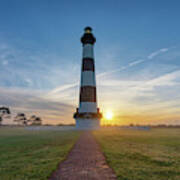
[[[96,102],[80,102],[79,113],[85,112],[97,113]]]

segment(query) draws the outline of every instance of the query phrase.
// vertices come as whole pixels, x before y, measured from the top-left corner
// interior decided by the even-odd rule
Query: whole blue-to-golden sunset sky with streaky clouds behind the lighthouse
[[[180,124],[180,1],[0,0],[0,105],[74,123],[80,37],[93,28],[98,106],[114,124]]]

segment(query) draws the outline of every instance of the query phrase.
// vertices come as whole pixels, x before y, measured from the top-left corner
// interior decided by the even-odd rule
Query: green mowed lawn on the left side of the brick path
[[[80,132],[0,127],[0,180],[46,180]]]

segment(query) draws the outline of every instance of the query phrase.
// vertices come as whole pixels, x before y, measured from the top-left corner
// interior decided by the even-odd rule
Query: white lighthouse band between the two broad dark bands
[[[83,71],[82,72],[81,86],[96,86],[95,73],[93,71]]]

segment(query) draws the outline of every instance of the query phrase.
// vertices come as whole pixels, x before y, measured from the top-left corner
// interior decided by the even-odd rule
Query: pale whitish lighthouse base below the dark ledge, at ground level
[[[100,119],[93,118],[75,118],[76,129],[79,130],[91,130],[100,128]]]

